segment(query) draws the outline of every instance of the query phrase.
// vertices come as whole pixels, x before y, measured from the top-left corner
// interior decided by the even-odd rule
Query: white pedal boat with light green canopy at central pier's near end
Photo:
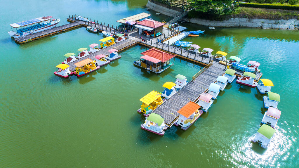
[[[165,125],[164,118],[156,113],[152,113],[148,117],[145,117],[145,122],[141,124],[141,128],[158,135],[164,135],[164,130],[168,126]]]

